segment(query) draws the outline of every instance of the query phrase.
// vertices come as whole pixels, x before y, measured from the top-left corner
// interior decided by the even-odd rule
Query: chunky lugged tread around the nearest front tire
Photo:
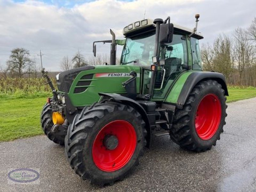
[[[68,127],[68,134],[65,138],[65,153],[68,158],[72,169],[75,170],[76,174],[82,177],[82,179],[90,180],[91,183],[97,185],[113,184],[117,180],[123,180],[125,175],[129,174],[126,172],[125,175],[120,175],[117,178],[112,180],[98,180],[86,172],[84,164],[81,161],[83,156],[82,143],[88,137],[88,133],[93,129],[93,125],[96,121],[103,118],[106,114],[113,113],[114,111],[128,111],[136,116],[142,125],[145,125],[144,121],[141,118],[141,115],[130,106],[126,106],[122,103],[106,101],[105,103],[94,103],[90,107],[85,107],[80,114],[77,114],[73,120],[73,123]],[[83,125],[83,126],[81,126]],[[145,136],[145,127],[143,129],[143,134]],[[145,139],[144,139],[145,142]],[[146,145],[146,143],[144,143]],[[140,156],[143,155],[143,150],[140,151]],[[139,159],[139,158],[138,158]],[[137,161],[138,161],[137,159]],[[137,164],[138,162],[135,162]],[[134,164],[134,165],[135,165]]]

